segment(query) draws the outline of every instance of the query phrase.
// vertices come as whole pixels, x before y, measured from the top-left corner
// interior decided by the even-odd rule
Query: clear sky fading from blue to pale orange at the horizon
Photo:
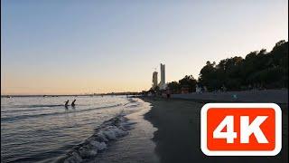
[[[288,41],[286,0],[3,0],[1,94],[143,91]]]

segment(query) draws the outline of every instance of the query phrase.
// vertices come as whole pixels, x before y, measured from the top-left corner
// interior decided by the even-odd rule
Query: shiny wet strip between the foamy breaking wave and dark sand
[[[91,163],[159,162],[154,153],[155,144],[152,140],[156,129],[148,120],[144,120],[144,114],[151,108],[150,104],[142,101],[137,107],[139,110],[126,115],[127,122],[131,124],[128,135],[113,141],[110,147],[99,153]]]

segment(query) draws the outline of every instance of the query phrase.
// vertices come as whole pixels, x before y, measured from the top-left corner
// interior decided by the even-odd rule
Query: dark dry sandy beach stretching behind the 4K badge
[[[288,162],[288,111],[283,111],[283,147],[274,157],[208,157],[200,150],[200,109],[197,101],[142,98],[152,104],[144,118],[153,123],[154,149],[161,162]],[[287,110],[287,104],[280,105]]]

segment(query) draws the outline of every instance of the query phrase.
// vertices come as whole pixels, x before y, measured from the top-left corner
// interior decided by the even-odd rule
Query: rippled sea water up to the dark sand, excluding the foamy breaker
[[[74,108],[64,107],[64,101],[74,99]],[[155,129],[143,119],[149,109],[149,103],[125,96],[1,98],[1,162],[58,161],[121,112],[135,122],[134,128],[93,160],[156,162]]]

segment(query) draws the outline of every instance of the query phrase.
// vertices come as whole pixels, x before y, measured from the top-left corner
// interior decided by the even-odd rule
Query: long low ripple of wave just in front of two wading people
[[[120,106],[122,104],[116,104],[116,105],[109,105],[109,106],[103,106],[98,108],[89,108],[85,110],[72,110],[72,111],[59,111],[59,112],[51,112],[51,113],[42,113],[42,114],[33,114],[33,115],[20,115],[20,116],[14,116],[14,117],[4,117],[1,118],[2,121],[12,121],[12,120],[23,120],[23,119],[30,119],[30,118],[38,118],[38,117],[44,117],[44,116],[53,116],[53,115],[61,115],[61,114],[67,114],[70,112],[84,112],[89,110],[99,110],[99,109],[106,109],[106,108],[114,108],[117,106]],[[62,106],[62,105],[61,105]]]

